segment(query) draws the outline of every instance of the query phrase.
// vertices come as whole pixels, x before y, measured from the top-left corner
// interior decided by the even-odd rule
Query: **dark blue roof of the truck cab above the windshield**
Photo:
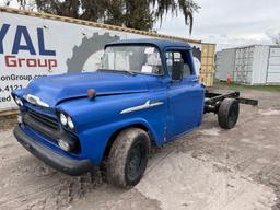
[[[154,45],[163,50],[166,47],[185,47],[191,49],[190,45],[180,40],[171,40],[162,38],[133,38],[133,39],[121,39],[107,44],[106,46],[112,45]]]

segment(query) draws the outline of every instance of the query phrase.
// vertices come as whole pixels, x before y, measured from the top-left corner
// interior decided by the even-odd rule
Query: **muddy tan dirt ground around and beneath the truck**
[[[243,91],[259,100],[242,105],[236,127],[217,116],[161,149],[130,190],[102,182],[98,170],[69,177],[48,167],[1,120],[0,209],[9,210],[280,210],[280,93]]]

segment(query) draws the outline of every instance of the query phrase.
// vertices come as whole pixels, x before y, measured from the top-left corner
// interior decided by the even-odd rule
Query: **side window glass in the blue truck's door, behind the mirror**
[[[190,68],[190,57],[188,51],[178,51],[178,50],[171,50],[166,52],[166,63],[170,75],[172,75],[173,66],[175,62],[183,61],[183,78],[192,74],[192,70]]]

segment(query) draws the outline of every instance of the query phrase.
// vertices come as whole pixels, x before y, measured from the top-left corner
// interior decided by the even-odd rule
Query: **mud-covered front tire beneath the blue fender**
[[[142,178],[149,155],[149,135],[139,128],[122,130],[114,141],[107,162],[108,183],[126,188]]]

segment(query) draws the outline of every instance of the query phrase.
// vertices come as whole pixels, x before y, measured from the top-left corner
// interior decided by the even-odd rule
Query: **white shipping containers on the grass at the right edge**
[[[280,46],[250,45],[222,50],[217,78],[234,82],[261,85],[280,84]]]

